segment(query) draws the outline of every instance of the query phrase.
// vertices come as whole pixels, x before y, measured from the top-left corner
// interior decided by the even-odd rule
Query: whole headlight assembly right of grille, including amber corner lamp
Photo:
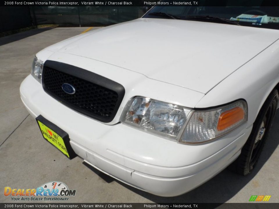
[[[191,110],[146,97],[128,102],[121,122],[179,143],[203,143],[219,138],[247,121],[243,100],[208,110]]]

